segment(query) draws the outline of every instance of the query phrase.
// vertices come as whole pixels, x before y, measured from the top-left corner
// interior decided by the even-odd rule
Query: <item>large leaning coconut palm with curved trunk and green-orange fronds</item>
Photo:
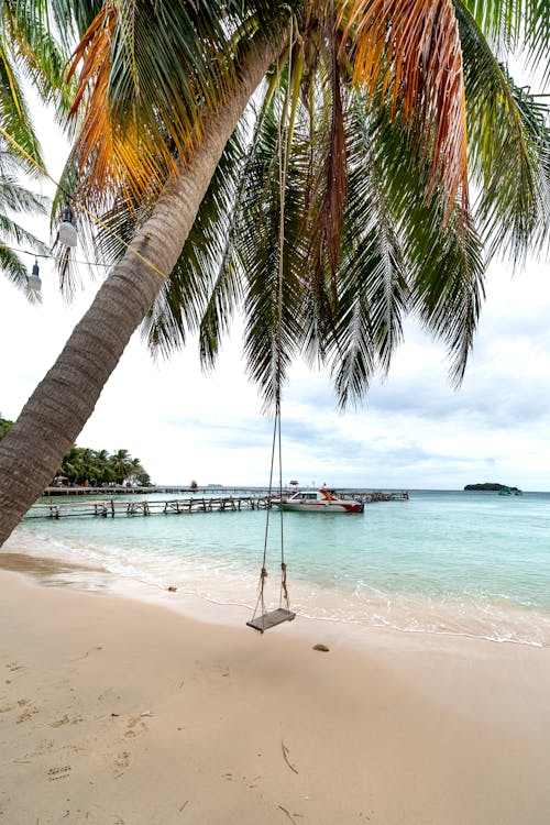
[[[69,7],[86,23],[99,13],[76,51],[84,117],[65,184],[105,216],[99,241],[119,261],[0,446],[0,542],[147,314],[164,349],[204,319],[211,360],[244,298],[250,369],[267,400],[299,348],[332,359],[341,398],[359,397],[387,369],[406,311],[448,342],[460,380],[483,298],[481,240],[521,256],[547,230],[544,112],[486,40],[522,38],[543,62],[544,3]],[[235,128],[265,76],[243,167]]]

